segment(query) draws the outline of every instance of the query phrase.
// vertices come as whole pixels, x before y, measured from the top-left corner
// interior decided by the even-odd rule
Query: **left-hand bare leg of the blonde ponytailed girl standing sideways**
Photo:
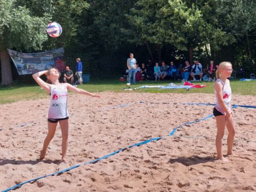
[[[222,155],[222,138],[225,133],[225,125],[226,125],[226,116],[221,115],[217,116],[216,118],[216,124],[217,124],[217,135],[216,135],[216,148],[217,148],[217,158],[220,159],[223,162],[227,162],[228,159],[223,157]]]

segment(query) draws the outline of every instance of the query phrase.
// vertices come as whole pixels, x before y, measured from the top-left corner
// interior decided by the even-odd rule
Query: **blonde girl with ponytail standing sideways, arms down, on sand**
[[[233,119],[233,112],[231,107],[231,88],[229,80],[231,73],[233,72],[230,62],[221,62],[219,69],[216,71],[217,81],[214,84],[214,92],[216,95],[216,105],[213,109],[213,115],[217,124],[217,136],[216,136],[216,148],[217,158],[223,162],[227,162],[228,159],[222,155],[222,138],[225,133],[225,127],[228,129],[228,155],[233,154],[233,142],[235,138],[235,124]]]

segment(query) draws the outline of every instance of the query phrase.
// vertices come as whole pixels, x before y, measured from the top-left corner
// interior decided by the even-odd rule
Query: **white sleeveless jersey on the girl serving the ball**
[[[60,119],[68,117],[67,98],[68,90],[63,83],[59,86],[51,85],[51,105],[48,118]]]

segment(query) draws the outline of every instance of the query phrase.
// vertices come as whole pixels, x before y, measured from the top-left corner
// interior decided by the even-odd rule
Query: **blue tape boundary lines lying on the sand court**
[[[144,102],[139,101],[139,103],[144,103]],[[129,105],[130,103],[127,103],[127,104]],[[125,106],[127,106],[127,104],[124,104],[124,105],[121,105],[121,106],[117,106],[117,107],[125,107]],[[181,104],[187,104],[187,105],[210,105],[210,106],[214,105],[214,104],[211,104],[211,103],[181,103]],[[233,105],[232,107],[233,107],[233,108],[237,108],[237,107],[256,108],[256,106],[241,106],[241,105]],[[172,130],[172,132],[171,132],[168,136],[169,136],[169,137],[172,136],[172,135],[174,134],[174,132],[175,132],[177,129],[179,129],[179,127],[181,127],[181,126],[189,125],[189,124],[193,124],[193,123],[197,123],[197,122],[200,122],[200,121],[204,121],[204,120],[206,120],[206,119],[208,119],[208,118],[211,118],[211,117],[213,117],[213,114],[211,114],[211,115],[209,115],[209,116],[207,116],[207,117],[198,119],[198,120],[196,120],[196,121],[194,121],[194,122],[187,122],[187,123],[184,123],[184,124],[182,124],[182,125],[180,125],[180,126],[178,126],[178,127],[175,127],[175,128]],[[22,185],[24,185],[24,184],[26,184],[26,183],[34,182],[34,181],[37,181],[37,180],[42,179],[42,178],[47,178],[47,177],[50,177],[50,176],[53,176],[53,175],[60,175],[60,174],[62,174],[62,173],[64,173],[64,172],[67,172],[67,171],[70,171],[70,170],[72,170],[72,169],[75,169],[75,168],[77,168],[77,167],[79,167],[79,166],[81,166],[81,165],[88,165],[88,164],[97,163],[97,162],[100,161],[101,159],[106,159],[106,158],[108,158],[108,157],[110,157],[110,156],[116,155],[117,153],[119,153],[119,152],[121,152],[121,151],[124,151],[124,150],[127,149],[127,148],[139,147],[139,146],[144,145],[144,144],[146,144],[146,143],[149,143],[149,142],[151,142],[151,141],[158,141],[158,140],[160,140],[160,139],[162,139],[162,138],[163,138],[163,137],[157,137],[157,138],[148,139],[148,140],[146,140],[146,141],[142,141],[142,142],[139,142],[139,143],[135,143],[134,145],[121,148],[121,149],[115,151],[114,153],[110,153],[110,154],[108,154],[108,155],[105,155],[105,156],[100,157],[100,158],[98,158],[98,159],[92,160],[92,161],[90,161],[90,162],[86,162],[86,163],[74,165],[74,166],[71,166],[71,167],[69,167],[69,168],[67,168],[67,169],[64,169],[64,170],[61,170],[61,171],[58,171],[58,172],[55,172],[55,173],[47,174],[47,175],[44,175],[44,176],[41,176],[41,177],[38,177],[38,178],[35,178],[35,179],[31,179],[31,180],[28,180],[28,181],[19,183],[18,185],[15,185],[15,186],[13,186],[13,187],[10,187],[10,188],[8,188],[8,189],[5,189],[5,190],[3,190],[2,192],[7,192],[7,191],[10,191],[10,190],[13,190],[13,189],[15,189],[15,188],[21,187]]]

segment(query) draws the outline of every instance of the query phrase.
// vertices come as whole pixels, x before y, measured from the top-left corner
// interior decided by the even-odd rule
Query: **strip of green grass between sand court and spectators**
[[[142,85],[168,85],[170,81],[144,81],[137,82],[137,85],[131,85],[133,89]],[[172,82],[176,85],[180,85],[180,81]],[[89,92],[125,92],[125,93],[210,93],[213,94],[213,83],[212,82],[195,82],[194,84],[205,84],[206,87],[202,89],[191,89],[186,91],[186,89],[169,89],[169,90],[158,90],[157,88],[149,89],[139,89],[132,91],[124,91],[123,89],[127,88],[125,85],[126,82],[119,82],[117,80],[104,80],[104,81],[90,81],[88,84],[78,85],[79,88],[82,88]],[[231,89],[233,94],[241,95],[256,95],[256,81],[231,81]],[[73,94],[73,93],[72,93]],[[46,92],[38,85],[26,85],[14,83],[11,86],[0,86],[0,105],[5,103],[12,103],[20,100],[35,100],[48,98],[49,96]]]

